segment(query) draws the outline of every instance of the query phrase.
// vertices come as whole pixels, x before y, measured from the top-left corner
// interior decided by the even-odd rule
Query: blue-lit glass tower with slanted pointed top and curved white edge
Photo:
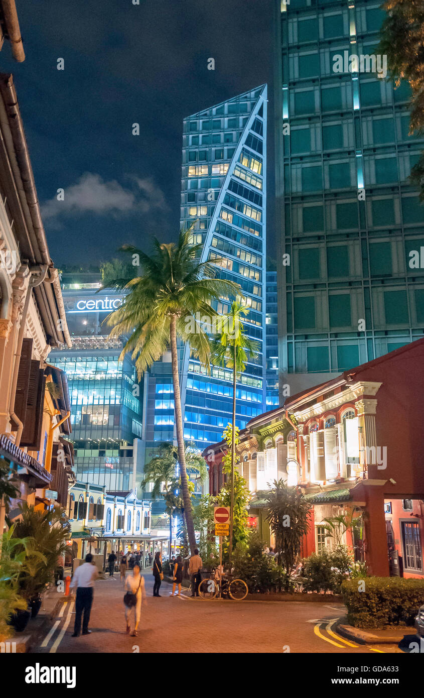
[[[261,346],[236,387],[240,428],[265,406],[266,106],[262,85],[183,122],[181,227],[195,221],[202,260],[220,260],[217,276],[241,285],[250,306],[245,329]],[[218,310],[228,309],[222,299]],[[184,436],[204,448],[232,422],[232,371],[206,376],[188,350],[181,365]]]

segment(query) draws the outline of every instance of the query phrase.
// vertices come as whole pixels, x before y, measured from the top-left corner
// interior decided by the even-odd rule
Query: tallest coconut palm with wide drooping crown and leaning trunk
[[[215,279],[212,265],[199,262],[202,244],[192,245],[189,238],[190,230],[185,230],[180,233],[176,244],[160,244],[154,239],[152,255],[132,246],[124,246],[121,250],[130,253],[132,260],[137,260],[142,267],[142,275],[134,279],[107,281],[104,285],[128,290],[125,303],[109,315],[107,322],[114,326],[111,336],[128,336],[120,358],[126,352],[132,352],[139,378],[169,346],[171,348],[181,490],[188,540],[194,552],[195,528],[185,463],[176,341],[178,337],[183,343],[188,343],[192,355],[209,370],[210,347],[202,324],[204,316],[214,318],[218,313],[211,303],[220,297],[236,296],[240,287],[232,281]]]

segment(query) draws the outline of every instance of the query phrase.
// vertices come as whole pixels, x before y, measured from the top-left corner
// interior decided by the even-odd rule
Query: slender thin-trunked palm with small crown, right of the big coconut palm
[[[211,363],[233,369],[233,423],[231,447],[231,503],[229,510],[229,565],[231,566],[233,545],[234,514],[234,461],[236,454],[236,378],[243,373],[248,359],[254,359],[259,350],[259,342],[245,335],[243,315],[249,309],[239,300],[233,301],[229,313],[222,315],[219,322],[218,336],[211,339]]]

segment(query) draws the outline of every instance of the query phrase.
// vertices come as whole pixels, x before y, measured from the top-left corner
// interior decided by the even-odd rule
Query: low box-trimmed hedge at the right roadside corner
[[[359,591],[363,588],[363,591]],[[342,583],[347,621],[355,628],[414,625],[424,604],[424,579],[365,577]]]

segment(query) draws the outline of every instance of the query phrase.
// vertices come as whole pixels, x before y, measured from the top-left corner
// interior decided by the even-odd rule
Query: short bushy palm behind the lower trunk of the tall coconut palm
[[[172,443],[162,443],[159,447],[160,455],[152,458],[149,463],[144,466],[144,479],[141,487],[146,488],[146,485],[151,483],[152,499],[156,499],[162,494],[166,503],[166,511],[169,514],[169,559],[171,558],[172,547],[172,516],[181,512],[185,512],[181,496],[176,494],[176,491],[181,487],[181,480],[177,475],[179,468],[178,449]],[[207,474],[206,463],[199,451],[195,449],[195,443],[185,441],[185,466],[188,475],[199,475],[204,480]]]

